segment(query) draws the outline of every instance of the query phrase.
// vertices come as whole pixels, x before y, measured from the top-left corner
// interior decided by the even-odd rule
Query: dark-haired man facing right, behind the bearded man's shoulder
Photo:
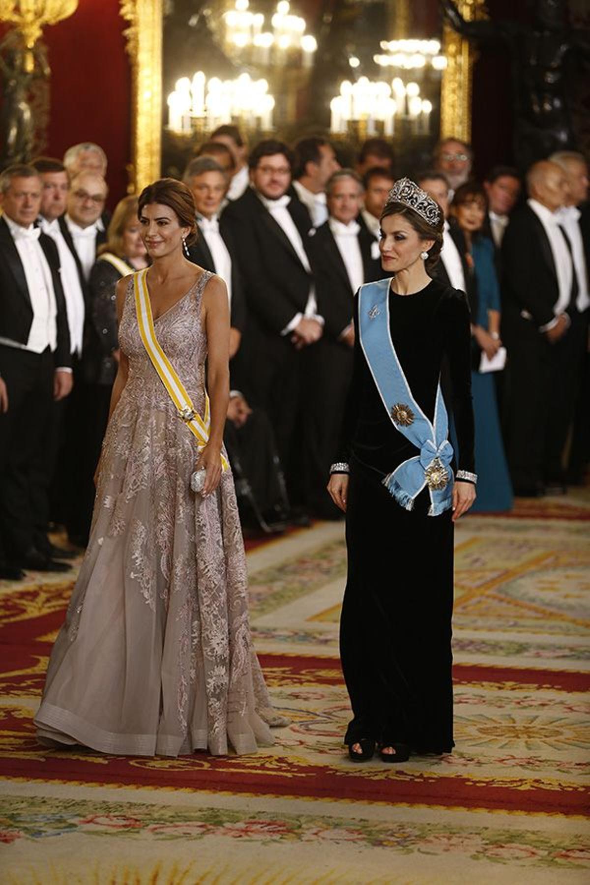
[[[326,181],[340,169],[340,163],[325,138],[302,138],[295,144],[294,154],[295,193],[310,213],[312,226],[319,227],[328,217]]]

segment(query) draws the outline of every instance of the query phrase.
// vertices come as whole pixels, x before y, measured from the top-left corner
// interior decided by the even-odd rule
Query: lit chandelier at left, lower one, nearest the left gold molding
[[[249,73],[235,80],[207,80],[203,71],[197,71],[192,81],[180,77],[167,104],[168,128],[181,135],[194,129],[211,131],[224,123],[237,123],[247,130],[272,129],[274,97],[268,81],[252,80]]]

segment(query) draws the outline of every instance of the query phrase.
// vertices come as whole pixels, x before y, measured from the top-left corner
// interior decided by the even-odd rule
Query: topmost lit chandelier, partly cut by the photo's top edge
[[[318,42],[306,34],[305,19],[293,15],[287,0],[280,0],[272,15],[272,30],[264,27],[262,12],[251,12],[249,0],[234,0],[234,9],[223,16],[228,50],[245,50],[259,65],[284,64],[287,55],[300,52],[304,67],[313,60]]]

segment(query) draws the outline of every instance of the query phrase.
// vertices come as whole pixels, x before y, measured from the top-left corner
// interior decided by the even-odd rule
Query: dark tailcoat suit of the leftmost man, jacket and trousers
[[[50,267],[56,300],[56,348],[38,354],[0,344],[0,374],[9,397],[8,412],[0,413],[0,525],[6,555],[14,561],[47,543],[40,525],[40,513],[47,511],[47,489],[38,476],[47,457],[54,372],[72,366],[57,246],[44,234],[39,245]],[[27,344],[34,311],[19,251],[4,219],[0,219],[0,292],[0,336]]]

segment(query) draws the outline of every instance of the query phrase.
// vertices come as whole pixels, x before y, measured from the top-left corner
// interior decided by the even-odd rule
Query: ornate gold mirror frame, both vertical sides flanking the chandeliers
[[[163,0],[120,0],[129,22],[126,50],[132,69],[131,163],[129,192],[139,191],[161,173],[162,162],[162,30]],[[465,19],[486,14],[485,0],[460,0]],[[473,51],[468,41],[444,26],[443,51],[448,67],[441,84],[441,138],[455,135],[471,141]]]

